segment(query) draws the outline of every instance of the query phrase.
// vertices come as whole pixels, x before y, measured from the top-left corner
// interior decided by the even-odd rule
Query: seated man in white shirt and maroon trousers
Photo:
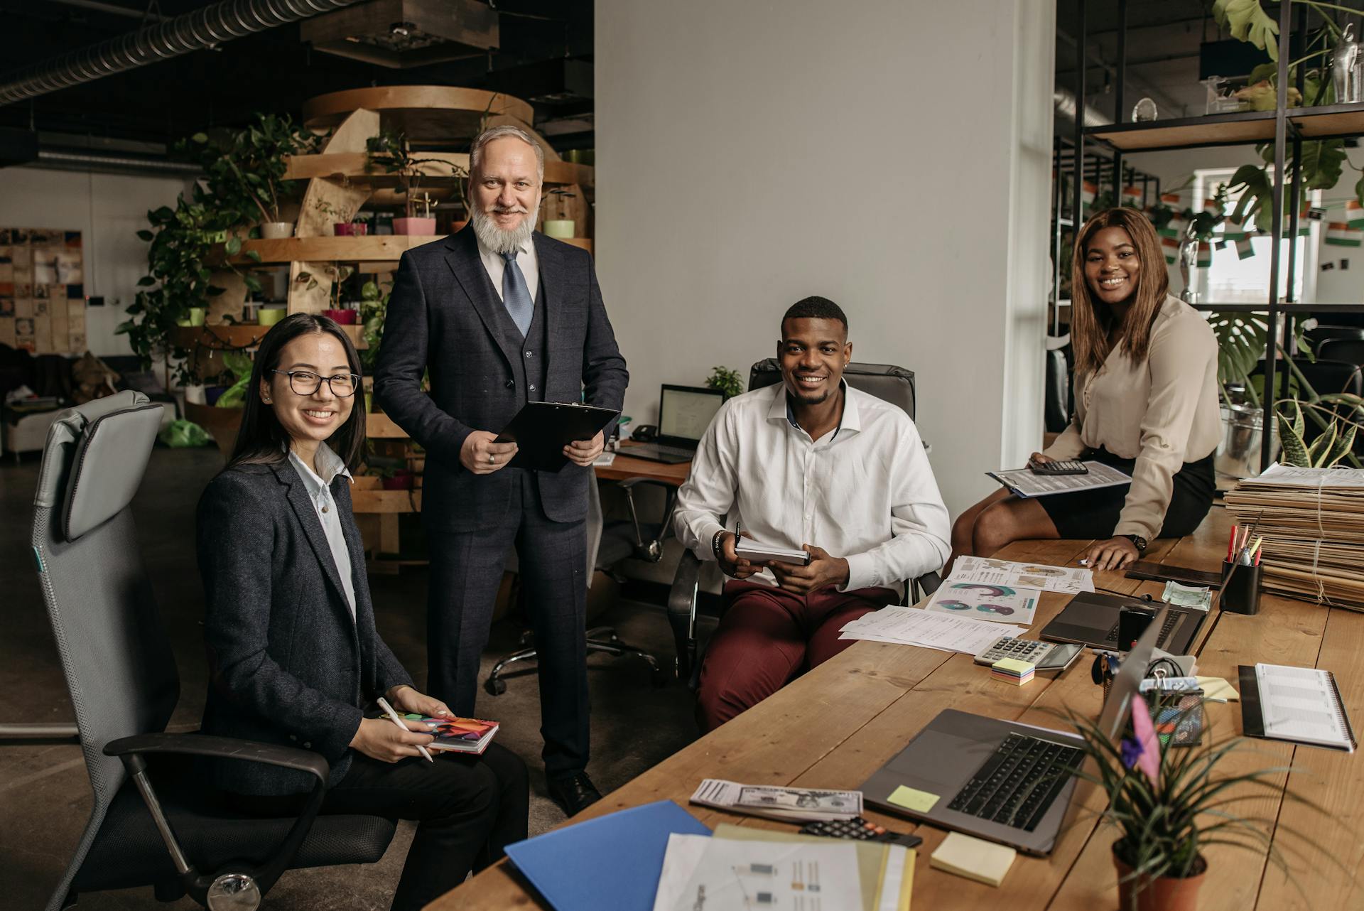
[[[947,561],[951,522],[914,421],[844,383],[851,359],[837,304],[794,304],[777,342],[784,382],[720,408],[678,494],[678,537],[731,577],[701,667],[707,731],[842,652],[843,625]],[[750,563],[727,526],[810,563]]]

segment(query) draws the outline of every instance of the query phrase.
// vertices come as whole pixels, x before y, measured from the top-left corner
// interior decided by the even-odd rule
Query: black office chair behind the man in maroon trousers
[[[914,372],[889,364],[851,363],[843,368],[843,379],[848,386],[870,395],[899,405],[914,419]],[[773,386],[782,382],[782,365],[773,357],[753,364],[749,370],[749,391]],[[925,449],[928,445],[925,445]],[[701,578],[701,561],[690,550],[682,551],[672,589],[668,592],[668,622],[672,625],[672,638],[677,646],[677,675],[687,689],[696,690],[701,679],[701,659],[704,645],[697,644],[696,607]],[[918,601],[923,595],[932,595],[943,584],[937,573],[926,573],[908,580],[902,603]]]

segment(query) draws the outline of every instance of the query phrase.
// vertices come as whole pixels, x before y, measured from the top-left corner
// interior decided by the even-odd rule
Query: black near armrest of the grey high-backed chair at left
[[[161,840],[170,854],[172,863],[175,863],[176,873],[180,876],[180,884],[190,897],[205,907],[207,907],[209,888],[224,874],[231,873],[248,877],[256,884],[262,897],[270,891],[284,871],[289,869],[289,865],[293,863],[299,847],[312,829],[318,810],[322,809],[322,799],[326,796],[327,775],[330,773],[326,758],[319,753],[277,746],[274,743],[258,743],[255,741],[203,734],[138,734],[110,741],[105,745],[104,753],[105,756],[116,756],[123,761],[123,766],[132,776],[132,781],[138,787],[143,803],[147,805],[147,810],[151,813],[151,820],[155,822],[157,831],[161,833]],[[295,818],[288,835],[284,836],[284,840],[274,850],[273,856],[263,865],[252,869],[244,863],[233,863],[224,870],[201,873],[190,863],[175,831],[170,828],[170,821],[161,809],[161,801],[157,798],[151,787],[151,780],[147,776],[147,762],[143,758],[146,753],[211,756],[225,760],[278,765],[307,772],[316,779],[316,784],[314,784],[312,791],[308,794],[307,803],[304,803],[303,810]]]

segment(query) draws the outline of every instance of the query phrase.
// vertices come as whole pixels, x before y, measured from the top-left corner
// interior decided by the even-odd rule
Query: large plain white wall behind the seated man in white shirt
[[[1054,4],[596,4],[597,271],[630,365],[747,372],[837,301],[918,376],[948,507],[1041,442]]]

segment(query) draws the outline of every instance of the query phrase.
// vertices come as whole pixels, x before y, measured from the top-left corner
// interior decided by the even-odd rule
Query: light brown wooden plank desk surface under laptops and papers
[[[1194,535],[1157,541],[1147,559],[1180,566],[1211,567],[1226,551],[1229,521],[1214,507]],[[1000,556],[1043,563],[1071,563],[1087,541],[1019,541]],[[1095,585],[1120,592],[1158,596],[1161,584],[1097,573]],[[1034,630],[1041,630],[1065,604],[1067,596],[1046,593]],[[1195,644],[1199,672],[1236,682],[1237,664],[1270,661],[1331,670],[1356,724],[1364,719],[1364,614],[1316,607],[1304,601],[1263,596],[1256,616],[1215,614]],[[709,826],[734,822],[794,831],[797,826],[690,806],[687,798],[704,777],[754,784],[850,788],[866,780],[893,757],[940,711],[955,708],[1001,719],[1057,727],[1064,708],[1098,716],[1101,690],[1090,682],[1083,657],[1057,678],[1038,675],[1027,686],[990,679],[970,655],[948,655],[906,645],[859,641],[835,659],[794,681],[735,720],[696,741],[623,787],[607,794],[574,821],[671,799],[686,806]],[[1207,704],[1213,736],[1240,734],[1240,704]],[[686,724],[690,719],[660,719]],[[820,731],[809,736],[807,731]],[[1364,869],[1364,760],[1334,750],[1294,747],[1275,741],[1251,741],[1219,764],[1226,773],[1259,768],[1290,768],[1293,792],[1324,806],[1329,817],[1285,802],[1279,794],[1240,790],[1245,795],[1230,809],[1266,820],[1275,837],[1285,831],[1305,832],[1318,843],[1285,836],[1285,856],[1294,880],[1263,851],[1204,848],[1209,874],[1199,895],[1200,911],[1263,908],[1364,908],[1364,877],[1349,881],[1338,866]],[[1282,784],[1286,776],[1275,779]],[[1011,911],[1117,907],[1117,877],[1110,856],[1113,829],[1101,831],[1093,811],[1102,798],[1090,791],[1078,802],[1090,813],[1072,813],[1069,828],[1048,858],[1019,855],[1000,889],[963,880],[929,866],[929,855],[945,832],[917,826],[900,817],[868,810],[866,817],[900,832],[923,837],[914,873],[915,908],[981,908],[1001,901]],[[1300,892],[1301,889],[1301,892]],[[506,862],[428,906],[456,908],[544,908],[525,880]]]

